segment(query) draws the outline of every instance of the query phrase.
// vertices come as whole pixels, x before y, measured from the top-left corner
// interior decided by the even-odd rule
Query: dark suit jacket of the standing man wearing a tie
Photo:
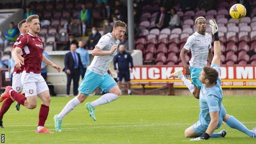
[[[76,53],[78,55],[78,69],[75,69],[75,62],[74,62],[74,59],[73,59],[73,56],[72,56],[72,53],[69,52],[69,53],[66,53],[65,54],[65,57],[64,57],[64,65],[65,65],[65,69],[63,69],[63,71],[65,71],[66,73],[66,70],[70,70],[71,71],[71,74],[79,74],[80,73],[80,69],[82,68],[82,62],[81,62],[81,58],[80,58],[80,55],[79,53]]]

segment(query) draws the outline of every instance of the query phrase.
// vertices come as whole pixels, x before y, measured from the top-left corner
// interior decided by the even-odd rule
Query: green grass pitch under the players
[[[90,96],[85,102],[98,96]],[[52,97],[46,128],[54,130],[53,116],[58,114],[71,98]],[[256,97],[224,96],[228,114],[245,123],[249,129],[256,126]],[[225,138],[190,142],[184,130],[198,120],[199,101],[192,96],[121,96],[117,101],[96,108],[93,121],[85,103],[75,107],[63,120],[62,133],[36,134],[40,100],[35,110],[21,107],[18,112],[11,105],[5,114],[4,129],[7,144],[255,144],[238,130],[222,125]]]

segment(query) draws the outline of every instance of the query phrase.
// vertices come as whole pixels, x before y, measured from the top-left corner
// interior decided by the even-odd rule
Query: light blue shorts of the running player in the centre
[[[85,77],[82,79],[82,83],[78,87],[78,91],[88,96],[97,87],[100,87],[103,91],[109,91],[116,85],[117,82],[109,74],[99,75],[87,69]]]

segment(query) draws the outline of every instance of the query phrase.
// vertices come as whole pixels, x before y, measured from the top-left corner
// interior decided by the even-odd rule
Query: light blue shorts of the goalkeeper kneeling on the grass
[[[225,107],[222,105],[219,113],[219,123],[216,127],[216,130],[221,126],[225,116],[226,116],[226,110],[225,110]],[[201,123],[200,121],[197,121],[197,123],[193,125],[194,132],[199,135],[203,135],[206,132],[207,128],[208,128],[208,124]]]

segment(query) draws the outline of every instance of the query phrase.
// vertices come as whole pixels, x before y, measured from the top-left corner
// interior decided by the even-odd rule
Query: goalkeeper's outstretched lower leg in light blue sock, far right
[[[249,130],[244,124],[238,121],[238,119],[235,119],[235,117],[226,114],[224,121],[229,127],[235,128],[240,132],[249,135],[249,137],[256,137],[256,130]]]

